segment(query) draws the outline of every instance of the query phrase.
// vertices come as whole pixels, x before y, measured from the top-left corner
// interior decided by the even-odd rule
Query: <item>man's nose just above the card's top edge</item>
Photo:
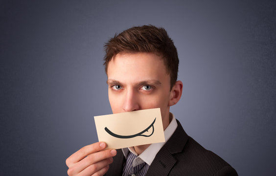
[[[126,91],[123,110],[125,112],[139,110],[138,92],[132,89],[129,89]]]

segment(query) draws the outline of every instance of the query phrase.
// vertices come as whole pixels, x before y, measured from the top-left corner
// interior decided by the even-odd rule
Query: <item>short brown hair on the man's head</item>
[[[104,45],[104,49],[106,52],[104,58],[106,73],[108,63],[116,54],[120,52],[148,52],[160,55],[163,59],[170,74],[171,88],[177,81],[179,64],[177,49],[167,31],[162,27],[158,28],[153,25],[132,27],[120,34],[115,34],[114,38],[111,38]]]

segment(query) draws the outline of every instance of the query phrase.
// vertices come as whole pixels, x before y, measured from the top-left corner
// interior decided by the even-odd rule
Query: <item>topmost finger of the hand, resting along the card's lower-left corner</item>
[[[87,145],[74,154],[70,155],[69,158],[66,159],[66,165],[70,167],[71,165],[79,162],[82,160],[84,157],[86,157],[89,154],[101,151],[106,148],[106,143],[105,142],[96,142],[91,145]]]

